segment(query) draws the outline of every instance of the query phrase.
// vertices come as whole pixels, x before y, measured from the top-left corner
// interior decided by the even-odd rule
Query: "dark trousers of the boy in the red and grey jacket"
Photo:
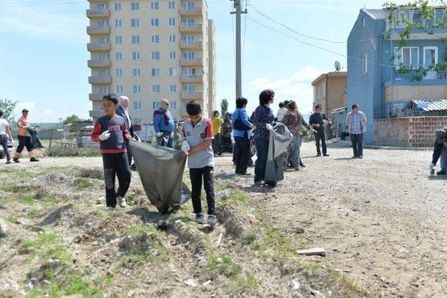
[[[126,153],[103,154],[105,202],[107,207],[117,206],[117,196],[124,197],[131,185],[131,168]],[[118,177],[118,191],[115,191],[115,176]]]

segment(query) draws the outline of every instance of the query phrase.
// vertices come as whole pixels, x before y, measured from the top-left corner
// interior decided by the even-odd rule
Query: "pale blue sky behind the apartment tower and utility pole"
[[[124,1],[124,0],[123,0]],[[129,1],[129,0],[127,0]],[[300,110],[312,110],[311,82],[321,73],[334,70],[346,58],[299,43],[270,31],[288,33],[298,40],[346,54],[346,39],[361,8],[381,8],[383,0],[251,0],[242,16],[242,94],[249,99],[247,110],[258,104],[262,89],[274,89],[275,107],[293,98]],[[406,1],[397,1],[397,3]],[[235,98],[233,2],[209,0],[209,17],[217,27],[217,103]],[[307,36],[306,38],[267,20],[272,19]],[[19,100],[17,110],[27,107],[31,121],[54,122],[69,114],[88,117],[91,102],[87,82],[86,44],[89,36],[85,16],[87,0],[1,0],[0,1],[0,98]],[[247,19],[246,19],[247,17]],[[150,121],[150,119],[143,119]]]

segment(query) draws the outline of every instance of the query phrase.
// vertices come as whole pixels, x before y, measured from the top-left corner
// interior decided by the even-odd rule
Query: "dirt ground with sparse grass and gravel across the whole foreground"
[[[3,271],[0,275],[6,276],[3,279],[0,276],[0,297],[10,295],[10,292],[1,292],[3,289],[12,289],[18,296],[31,293],[39,297],[52,287],[50,277],[39,278],[33,274],[48,265],[31,257],[37,254],[45,258],[45,255],[30,253],[27,250],[32,251],[33,248],[29,248],[32,245],[23,245],[24,241],[39,237],[43,232],[61,237],[65,247],[75,255],[76,270],[84,272],[84,276],[88,272],[92,279],[97,278],[101,293],[111,297],[135,294],[142,297],[446,296],[447,220],[444,210],[447,203],[444,190],[447,180],[428,175],[432,152],[365,149],[362,160],[352,160],[352,151],[347,147],[330,146],[329,157],[314,157],[314,151],[313,144],[303,144],[302,160],[306,167],[298,172],[286,172],[284,181],[276,188],[254,187],[253,175],[235,177],[232,174],[230,156],[216,158],[215,177],[219,187],[234,188],[236,192],[231,195],[237,198],[240,193],[249,195],[249,206],[245,201],[232,203],[243,207],[237,216],[249,225],[232,229],[228,221],[223,223],[228,210],[222,205],[223,211],[218,216],[221,224],[196,239],[207,246],[206,253],[194,248],[195,232],[193,238],[188,233],[185,236],[184,232],[179,232],[182,228],[176,226],[179,223],[173,223],[182,218],[190,229],[196,229],[195,225],[190,226],[188,219],[191,217],[190,202],[185,207],[186,212],[181,211],[171,218],[173,232],[162,235],[152,231],[153,228],[141,228],[141,221],[155,223],[161,216],[147,202],[138,203],[144,195],[137,175],[134,175],[130,191],[137,203],[126,211],[118,211],[119,219],[100,211],[94,201],[102,195],[103,182],[77,175],[82,167],[100,169],[101,158],[43,158],[40,163],[24,161],[13,165],[10,167],[13,170],[8,171],[4,170],[6,165],[0,165],[0,181],[3,182],[5,177],[13,175],[21,181],[19,186],[27,186],[30,181],[52,184],[60,180],[54,191],[59,199],[54,199],[54,193],[47,191],[41,194],[57,200],[54,204],[46,201],[41,204],[36,195],[31,204],[23,193],[20,197],[17,189],[5,188],[3,184],[3,200],[10,195],[21,203],[4,200],[0,204],[0,218],[15,234],[6,240],[0,239],[0,253],[3,254],[0,255],[0,272]],[[15,171],[20,169],[31,174],[17,174]],[[63,177],[54,174],[55,171]],[[250,167],[249,172],[253,171]],[[27,202],[29,207],[26,207]],[[136,226],[136,232],[142,230],[153,235],[155,240],[149,242],[154,248],[163,247],[152,251],[150,257],[163,264],[162,268],[155,267],[156,262],[139,267],[135,255],[123,258],[119,253],[117,242],[121,241],[122,245],[126,234],[135,234],[135,229],[129,230],[129,226]],[[233,237],[247,231],[248,235],[250,229],[251,233],[261,231],[260,234],[266,235],[267,240],[260,246],[267,248],[256,251],[258,248],[253,248],[252,244],[250,248],[243,245],[244,238]],[[275,231],[281,233],[275,234]],[[189,237],[186,244],[177,244],[182,242],[182,237]],[[312,264],[312,268],[306,265],[305,270],[288,272],[286,266],[293,262],[288,258],[291,251],[314,247],[324,248],[326,256],[300,257],[300,265]],[[16,254],[11,253],[15,250]],[[165,260],[167,255],[161,251],[175,252],[179,262]],[[247,258],[248,253],[253,254],[251,258]],[[89,258],[84,260],[83,255]],[[121,258],[120,263],[115,264],[113,258]],[[145,258],[147,260],[147,255]],[[23,267],[24,262],[29,265]],[[332,277],[323,273],[320,276],[309,274],[309,271],[322,272],[323,269],[330,270]],[[73,276],[73,267],[70,270]],[[142,274],[151,270],[158,272],[157,276]],[[336,281],[333,276],[337,277]],[[157,285],[157,278],[162,278],[163,286]],[[72,279],[64,283],[71,285]],[[99,282],[101,279],[103,281]],[[331,282],[326,281],[329,279]],[[138,288],[136,281],[144,286]],[[36,291],[39,287],[42,290]],[[34,292],[30,292],[30,288],[34,288]],[[88,290],[87,287],[84,292],[65,293],[88,297]]]

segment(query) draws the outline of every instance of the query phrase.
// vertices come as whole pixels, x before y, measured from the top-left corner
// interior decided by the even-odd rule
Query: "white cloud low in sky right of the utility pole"
[[[250,89],[257,93],[263,89],[274,90],[274,98],[277,102],[287,99],[293,99],[298,103],[298,107],[304,114],[312,111],[312,102],[314,91],[312,81],[321,75],[320,70],[312,66],[305,66],[302,70],[277,79],[269,77],[258,77],[249,83]],[[276,110],[276,106],[274,110]]]

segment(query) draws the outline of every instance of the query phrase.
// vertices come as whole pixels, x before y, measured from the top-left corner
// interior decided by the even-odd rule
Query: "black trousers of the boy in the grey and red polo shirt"
[[[202,180],[203,188],[207,194],[208,215],[216,214],[214,203],[214,177],[213,167],[202,167],[200,169],[189,169],[189,177],[191,177],[191,200],[195,214],[202,213]]]

